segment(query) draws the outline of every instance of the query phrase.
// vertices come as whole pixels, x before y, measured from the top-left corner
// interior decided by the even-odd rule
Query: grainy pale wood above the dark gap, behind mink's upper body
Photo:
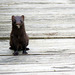
[[[2,0],[0,38],[9,38],[11,16],[22,14],[30,38],[75,37],[74,3],[73,0]]]

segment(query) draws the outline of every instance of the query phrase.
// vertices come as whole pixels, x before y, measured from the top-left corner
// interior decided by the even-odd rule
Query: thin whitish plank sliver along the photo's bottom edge
[[[37,72],[37,73],[25,73],[25,72],[23,72],[23,73],[2,73],[3,75],[23,75],[23,74],[26,74],[26,75],[74,75],[75,74],[75,72]],[[2,75],[2,74],[0,74],[0,75]]]

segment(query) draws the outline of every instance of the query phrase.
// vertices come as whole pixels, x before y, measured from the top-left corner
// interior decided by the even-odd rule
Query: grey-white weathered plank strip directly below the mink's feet
[[[75,70],[74,60],[75,53],[60,53],[60,54],[33,54],[19,56],[0,56],[0,65],[25,65],[25,64],[40,64],[53,66],[60,69],[62,67],[72,67],[71,71]],[[63,68],[62,68],[63,69]],[[64,68],[65,69],[65,68]],[[64,70],[63,69],[63,70]]]

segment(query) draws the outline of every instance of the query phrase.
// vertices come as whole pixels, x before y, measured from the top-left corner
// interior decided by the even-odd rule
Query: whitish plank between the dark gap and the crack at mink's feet
[[[35,44],[34,44],[35,43]],[[60,54],[60,53],[75,53],[74,39],[35,39],[30,40],[28,51],[29,55],[33,54]],[[12,50],[9,50],[9,41],[0,41],[0,56],[12,55]]]

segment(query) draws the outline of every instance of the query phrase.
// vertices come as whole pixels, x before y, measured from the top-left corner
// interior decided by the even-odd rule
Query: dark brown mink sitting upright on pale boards
[[[24,15],[12,16],[12,31],[10,34],[10,49],[14,50],[14,55],[18,55],[19,50],[27,54],[26,49],[29,44],[29,38],[24,27]]]

